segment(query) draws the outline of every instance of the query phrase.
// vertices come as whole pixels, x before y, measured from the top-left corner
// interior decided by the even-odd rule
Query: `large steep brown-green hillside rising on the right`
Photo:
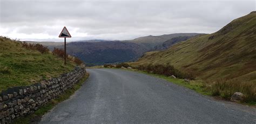
[[[200,79],[256,81],[256,13],[234,19],[219,31],[160,52],[148,52],[133,66],[174,65]]]

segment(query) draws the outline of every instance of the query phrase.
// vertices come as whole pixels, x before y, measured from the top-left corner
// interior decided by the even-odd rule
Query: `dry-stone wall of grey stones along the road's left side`
[[[85,73],[85,68],[76,67],[75,70],[62,74],[59,78],[2,91],[0,123],[9,123],[20,116],[34,113],[40,106],[71,88]]]

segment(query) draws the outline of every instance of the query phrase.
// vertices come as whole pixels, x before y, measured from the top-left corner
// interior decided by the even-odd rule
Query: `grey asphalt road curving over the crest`
[[[87,71],[87,82],[40,123],[256,123],[255,108],[163,79],[124,70]]]

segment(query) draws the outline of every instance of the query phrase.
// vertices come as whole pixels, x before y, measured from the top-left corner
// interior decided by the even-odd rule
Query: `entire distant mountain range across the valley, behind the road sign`
[[[176,44],[197,35],[200,34],[174,33],[161,36],[145,36],[133,40],[123,41],[109,41],[99,39],[80,40],[77,42],[68,42],[67,52],[68,54],[79,57],[85,61],[87,66],[123,63],[126,61],[137,60],[138,58],[142,57],[145,52],[152,50],[164,50],[167,49],[167,47],[169,47],[171,44]],[[169,43],[170,41],[172,43]],[[64,47],[64,44],[59,42],[29,43],[40,43],[48,46],[50,50],[53,50],[54,47]]]

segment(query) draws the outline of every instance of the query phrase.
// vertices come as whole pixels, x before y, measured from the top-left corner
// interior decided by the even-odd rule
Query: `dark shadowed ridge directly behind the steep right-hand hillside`
[[[203,34],[202,34],[203,35]],[[198,35],[196,35],[198,36]],[[183,42],[187,39],[190,39],[192,37],[195,37],[195,36],[179,36],[179,37],[174,37],[172,39],[169,39],[169,40],[166,40],[163,44],[161,45],[157,45],[155,46],[152,51],[158,51],[158,50],[166,50],[166,49],[169,49],[169,47],[171,47],[172,45],[174,44],[177,44],[179,42]]]

